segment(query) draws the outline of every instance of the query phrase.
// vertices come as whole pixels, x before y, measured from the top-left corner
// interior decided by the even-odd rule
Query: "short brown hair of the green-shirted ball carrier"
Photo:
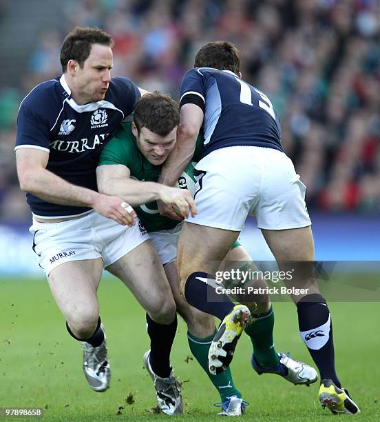
[[[180,123],[180,106],[169,94],[154,91],[143,95],[134,111],[138,134],[147,128],[160,137],[166,137]]]

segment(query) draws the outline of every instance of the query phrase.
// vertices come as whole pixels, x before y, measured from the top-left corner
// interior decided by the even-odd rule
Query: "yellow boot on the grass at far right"
[[[322,408],[328,408],[333,414],[359,414],[359,406],[352,401],[345,388],[338,388],[330,379],[322,379],[319,387],[319,401]]]

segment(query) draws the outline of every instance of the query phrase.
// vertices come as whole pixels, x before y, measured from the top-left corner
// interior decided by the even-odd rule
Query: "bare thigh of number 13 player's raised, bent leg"
[[[178,240],[178,274],[181,292],[192,272],[215,274],[239,232],[184,222]]]

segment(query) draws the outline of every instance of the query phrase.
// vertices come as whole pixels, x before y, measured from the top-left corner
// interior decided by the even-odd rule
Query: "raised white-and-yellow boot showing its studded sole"
[[[224,316],[210,345],[209,371],[211,374],[220,374],[228,368],[237,340],[250,321],[251,312],[245,305],[235,305],[233,310]]]

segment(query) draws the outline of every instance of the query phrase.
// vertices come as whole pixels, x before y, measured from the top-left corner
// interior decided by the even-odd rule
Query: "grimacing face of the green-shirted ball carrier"
[[[138,134],[133,123],[132,132],[134,137],[136,137],[138,149],[149,163],[153,165],[164,163],[176,143],[177,127],[173,128],[166,137],[160,137],[147,128],[141,128],[140,134]]]

